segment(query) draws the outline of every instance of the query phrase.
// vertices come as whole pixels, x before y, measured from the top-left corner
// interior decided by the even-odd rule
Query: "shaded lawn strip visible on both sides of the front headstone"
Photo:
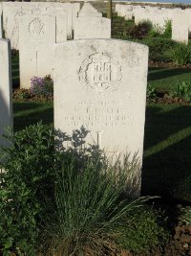
[[[53,123],[53,102],[13,102],[14,130]],[[146,108],[142,194],[191,202],[191,106]]]

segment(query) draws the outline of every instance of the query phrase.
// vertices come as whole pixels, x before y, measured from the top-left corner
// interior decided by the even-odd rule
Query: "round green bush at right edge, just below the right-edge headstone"
[[[174,62],[179,65],[191,64],[191,45],[179,44],[172,51]]]

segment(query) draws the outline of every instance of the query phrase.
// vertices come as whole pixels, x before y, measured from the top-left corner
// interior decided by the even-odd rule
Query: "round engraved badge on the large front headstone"
[[[95,93],[117,91],[121,78],[117,60],[103,53],[89,56],[79,68],[79,81]]]

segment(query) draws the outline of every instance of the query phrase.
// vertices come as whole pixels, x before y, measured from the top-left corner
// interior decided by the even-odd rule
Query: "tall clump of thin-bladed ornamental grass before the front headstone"
[[[131,197],[137,193],[138,187],[134,191],[131,186],[138,178],[139,165],[136,156],[129,157],[123,164],[119,159],[115,164],[106,160],[100,164],[103,158],[93,161],[90,157],[80,170],[76,170],[74,155],[63,159],[56,172],[53,201],[47,208],[51,214],[43,223],[43,254],[101,256],[119,251],[117,225],[148,200]]]

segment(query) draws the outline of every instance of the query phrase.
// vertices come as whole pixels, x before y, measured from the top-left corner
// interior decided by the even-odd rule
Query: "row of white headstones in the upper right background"
[[[180,8],[167,9],[150,6],[116,5],[117,15],[132,19],[135,23],[151,21],[154,27],[162,33],[168,21],[172,22],[172,39],[188,43],[188,35],[191,32],[191,9],[181,10]]]

